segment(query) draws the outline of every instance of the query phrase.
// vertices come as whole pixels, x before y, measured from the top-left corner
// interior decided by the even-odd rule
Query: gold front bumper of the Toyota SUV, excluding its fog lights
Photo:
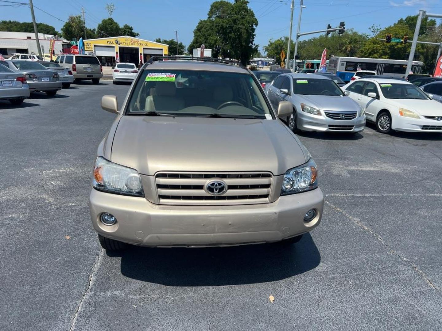
[[[237,206],[168,206],[145,198],[119,196],[92,188],[89,208],[95,230],[140,246],[225,246],[281,241],[319,225],[324,207],[320,188],[281,196],[273,203]],[[304,222],[310,209],[317,215]],[[102,213],[117,223],[100,222]]]

